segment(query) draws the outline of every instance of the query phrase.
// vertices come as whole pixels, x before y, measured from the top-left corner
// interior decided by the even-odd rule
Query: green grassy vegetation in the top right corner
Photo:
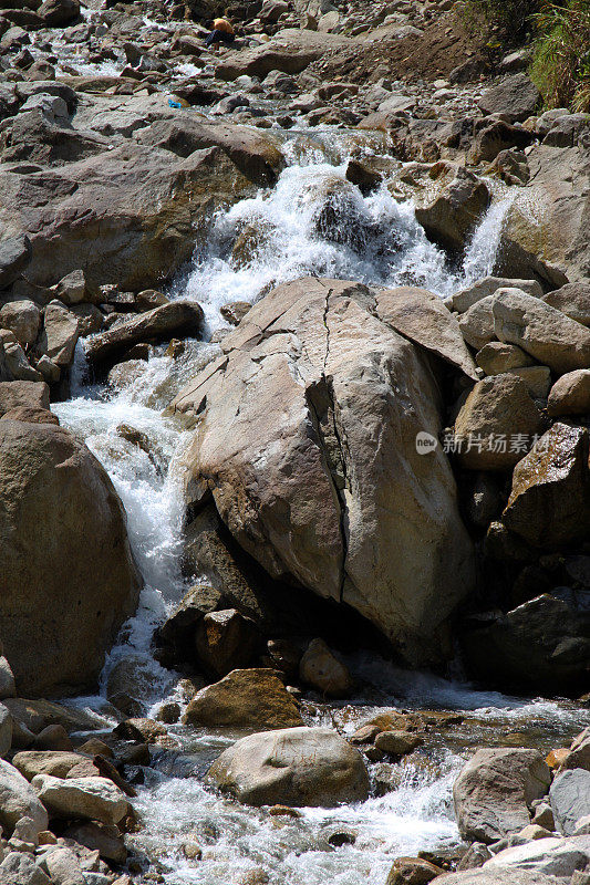
[[[546,108],[590,113],[590,0],[467,0],[467,17],[487,23],[495,50],[531,43]]]

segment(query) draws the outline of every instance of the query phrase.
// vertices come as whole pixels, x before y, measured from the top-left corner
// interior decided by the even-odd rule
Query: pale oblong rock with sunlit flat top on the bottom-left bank
[[[39,799],[56,818],[79,818],[118,823],[128,811],[125,794],[106,778],[70,778],[37,774],[32,780]]]

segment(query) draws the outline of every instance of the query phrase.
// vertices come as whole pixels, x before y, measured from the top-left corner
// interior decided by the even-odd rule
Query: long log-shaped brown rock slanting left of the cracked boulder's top
[[[170,301],[107,332],[93,335],[86,343],[86,357],[91,363],[114,361],[139,342],[197,336],[201,325],[203,310],[199,304],[192,301]]]

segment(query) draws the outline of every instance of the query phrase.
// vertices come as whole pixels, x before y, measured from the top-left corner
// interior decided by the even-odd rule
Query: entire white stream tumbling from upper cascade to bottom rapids
[[[315,131],[313,142],[304,131],[291,131],[286,147],[290,164],[275,188],[213,219],[206,244],[169,292],[201,304],[207,340],[226,325],[219,312],[224,304],[253,301],[273,284],[298,277],[318,274],[385,287],[412,283],[445,296],[491,271],[510,199],[506,190],[496,194],[460,266],[451,266],[428,242],[411,202],[397,202],[385,185],[369,197],[352,188],[353,211],[346,206],[350,228],[341,231],[339,241],[319,233],[315,220],[323,189],[334,180],[344,183],[350,149],[342,131],[320,135]],[[379,147],[368,137],[365,149]],[[338,205],[334,208],[338,218]],[[256,244],[238,261],[231,247],[247,227],[257,231]],[[188,434],[162,413],[217,346],[190,342],[177,360],[157,348],[144,373],[118,392],[87,382],[83,342],[77,347],[72,398],[52,408],[108,471],[127,512],[145,583],[138,612],[106,662],[101,695],[75,700],[103,716],[107,728],[113,719],[106,683],[121,659],[135,662],[143,674],[137,700],[146,712],[154,714],[165,700],[184,700],[179,675],[164,669],[151,653],[155,626],[198,579],[184,576],[180,563],[184,506],[177,462]],[[145,434],[149,451],[128,442],[121,425]],[[398,670],[369,653],[359,653],[348,664],[361,686],[358,694],[345,704],[320,699],[304,704],[308,723],[325,722],[350,733],[392,707],[459,710],[463,720],[446,730],[433,729],[432,740],[400,766],[397,789],[382,794],[379,764],[373,766],[374,790],[366,802],[303,809],[298,819],[271,818],[263,809],[241,806],[204,785],[208,764],[235,735],[170,726],[178,749],[156,750],[154,766],[145,770],[135,801],[143,830],[132,837],[167,885],[232,885],[248,871],[260,868],[272,885],[382,885],[395,856],[451,847],[459,841],[452,784],[468,748],[498,741],[545,746],[590,722],[587,711],[566,701],[479,691],[458,679]],[[199,861],[183,854],[189,833],[203,848]],[[349,834],[353,844],[332,846],[329,840],[335,833]]]

